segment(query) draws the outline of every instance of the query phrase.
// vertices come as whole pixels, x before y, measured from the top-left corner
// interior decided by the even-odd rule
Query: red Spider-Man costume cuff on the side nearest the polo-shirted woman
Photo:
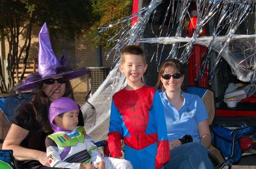
[[[155,168],[160,169],[170,160],[170,147],[168,140],[157,141],[157,155]]]

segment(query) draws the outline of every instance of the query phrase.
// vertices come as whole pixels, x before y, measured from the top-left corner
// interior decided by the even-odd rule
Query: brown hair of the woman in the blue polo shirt
[[[171,59],[167,59],[166,61],[164,61],[161,64],[159,74],[158,74],[157,84],[155,85],[156,88],[160,88],[160,89],[162,89],[162,91],[164,91],[164,88],[163,88],[163,83],[160,78],[164,74],[164,71],[166,70],[166,68],[168,68],[168,67],[175,68],[182,75],[184,74],[183,65],[178,59],[171,58]],[[181,89],[184,90],[183,87]]]

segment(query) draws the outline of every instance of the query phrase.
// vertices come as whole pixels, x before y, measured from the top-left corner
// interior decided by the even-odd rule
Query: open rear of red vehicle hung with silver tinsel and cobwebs
[[[140,1],[140,0],[139,0]],[[164,0],[160,5],[155,9],[155,11],[152,12],[151,17],[148,20],[148,23],[145,27],[144,31],[144,37],[143,38],[155,38],[155,37],[175,37],[178,20],[180,20],[179,16],[179,9],[181,7],[181,1],[175,0],[172,1],[170,5],[170,0]],[[191,6],[193,6],[194,1],[191,2]],[[139,3],[142,7],[148,6],[150,1],[148,0],[142,0],[141,3]],[[193,11],[196,11],[195,3],[194,8],[189,7],[188,11],[192,16]],[[169,8],[168,14],[166,14],[167,9]],[[175,12],[172,13],[172,11],[175,10]],[[177,13],[175,17],[172,18],[172,14]],[[253,35],[255,34],[255,28],[253,25],[255,25],[255,11],[248,12],[248,16],[245,17],[246,19],[239,25],[239,27],[236,29],[235,35]],[[174,16],[174,15],[173,15]],[[196,17],[196,15],[194,16]],[[193,18],[195,19],[195,18]],[[211,20],[209,20],[208,23],[205,24],[205,27],[202,29],[201,36],[212,36],[213,32],[215,31],[215,25],[216,22],[218,22],[218,17],[212,17]],[[186,17],[184,18],[186,20]],[[164,24],[163,24],[164,23]],[[196,22],[195,22],[196,24]],[[174,25],[174,27],[172,27]],[[172,29],[172,30],[171,30]],[[183,27],[183,29],[185,29]],[[193,31],[193,30],[191,30]],[[228,28],[224,28],[218,36],[227,36]],[[190,35],[189,35],[190,33]],[[192,32],[193,34],[193,32]],[[191,37],[191,32],[189,31],[182,31],[181,37]],[[168,35],[168,36],[166,36]],[[200,35],[198,36],[200,37]],[[255,42],[255,39],[254,41]],[[170,51],[172,49],[174,43],[171,44],[160,44],[160,43],[141,43],[140,45],[144,48],[146,52],[146,59],[148,64],[148,69],[146,73],[144,74],[144,82],[147,85],[154,86],[157,82],[158,77],[158,69],[160,68],[161,62],[163,62],[167,56],[169,56]],[[182,56],[182,53],[186,47],[186,42],[180,42],[177,50],[177,58]],[[195,81],[195,78],[198,74],[198,71],[201,68],[202,62],[205,59],[205,56],[207,55],[207,47],[203,45],[195,44],[193,47],[192,54],[188,60],[188,62],[185,64],[185,79],[184,79],[184,85],[194,85],[194,86],[201,86],[201,87],[207,87],[214,91],[215,93],[215,107],[216,107],[216,113],[215,113],[215,120],[214,122],[216,124],[225,125],[228,128],[234,129],[241,126],[252,126],[256,127],[256,101],[250,102],[250,99],[248,101],[242,102],[240,101],[237,103],[236,107],[227,107],[227,104],[224,102],[224,95],[225,91],[227,90],[227,87],[230,83],[237,84],[239,82],[242,82],[240,79],[241,76],[244,76],[246,78],[249,77],[250,73],[254,72],[254,69],[256,68],[255,65],[252,65],[251,63],[256,62],[254,60],[254,54],[251,56],[247,53],[248,50],[251,50],[251,48],[248,46],[250,45],[250,42],[248,39],[236,39],[236,40],[230,40],[227,45],[227,52],[223,52],[223,55],[218,62],[218,65],[216,64],[216,57],[218,56],[218,51],[212,50],[209,55],[210,59],[208,62],[208,65],[206,66],[206,69],[204,71],[203,78],[200,79],[199,82]],[[255,46],[252,46],[253,49],[255,49]],[[250,62],[245,62],[243,58],[249,58]],[[241,64],[245,64],[241,66],[241,64],[236,64],[237,59],[241,59]],[[242,72],[238,72],[239,70],[236,70],[236,67],[240,66],[241,70],[244,70]],[[214,73],[214,78],[210,79],[210,73],[212,69],[215,68],[216,71]],[[253,76],[250,76],[251,79],[247,79],[244,84],[250,84],[252,82]],[[210,82],[210,85],[208,84],[208,80],[212,80]],[[244,78],[245,79],[245,78]],[[256,100],[256,96],[253,96]],[[251,138],[253,139],[254,143],[256,142],[256,132],[251,135]]]

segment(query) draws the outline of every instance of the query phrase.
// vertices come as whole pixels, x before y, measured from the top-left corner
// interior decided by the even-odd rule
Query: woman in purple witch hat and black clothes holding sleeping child
[[[12,149],[19,169],[50,168],[45,148],[45,138],[52,133],[48,121],[49,104],[60,97],[73,98],[70,79],[90,73],[89,69],[70,70],[59,62],[52,51],[46,23],[39,33],[38,72],[29,75],[19,91],[32,90],[35,95],[24,104],[11,125],[3,149]],[[79,126],[84,126],[79,112]]]

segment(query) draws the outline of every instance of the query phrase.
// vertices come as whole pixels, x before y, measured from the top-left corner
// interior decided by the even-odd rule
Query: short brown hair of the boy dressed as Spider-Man
[[[128,45],[121,53],[121,64],[125,62],[125,54],[140,55],[143,57],[143,63],[146,65],[146,55],[142,48],[138,45]]]

